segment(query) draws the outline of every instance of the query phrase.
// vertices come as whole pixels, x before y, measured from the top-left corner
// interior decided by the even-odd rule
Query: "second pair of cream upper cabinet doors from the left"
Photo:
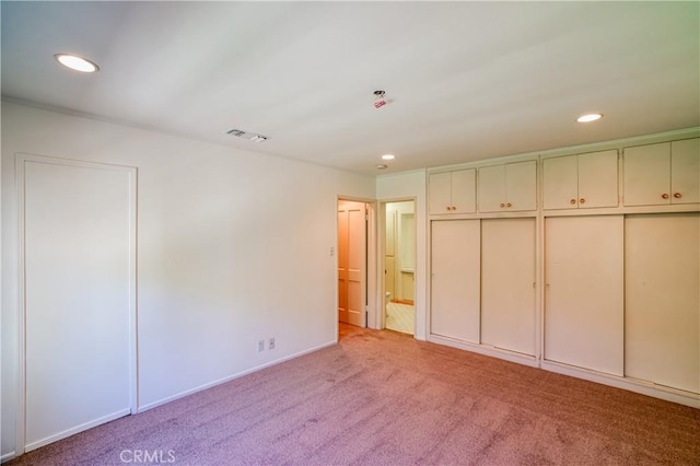
[[[479,211],[503,212],[536,209],[536,161],[479,168]]]

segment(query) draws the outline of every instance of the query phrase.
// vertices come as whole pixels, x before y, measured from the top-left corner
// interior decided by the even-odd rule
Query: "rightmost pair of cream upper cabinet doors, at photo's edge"
[[[700,138],[625,149],[625,205],[700,202]]]

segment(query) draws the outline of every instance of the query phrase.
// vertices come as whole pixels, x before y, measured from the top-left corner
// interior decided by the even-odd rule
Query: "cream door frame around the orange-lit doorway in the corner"
[[[378,328],[376,326],[376,294],[377,294],[377,279],[376,279],[376,270],[377,270],[377,254],[376,254],[376,226],[377,226],[377,201],[376,199],[368,199],[355,196],[336,196],[336,201],[334,206],[334,222],[335,222],[335,238],[336,242],[334,244],[334,251],[336,252],[334,255],[336,257],[335,264],[335,323],[336,323],[336,342],[338,341],[338,203],[340,201],[351,201],[351,202],[363,202],[368,208],[368,229],[366,229],[366,264],[365,264],[365,281],[366,281],[366,327],[368,328]]]

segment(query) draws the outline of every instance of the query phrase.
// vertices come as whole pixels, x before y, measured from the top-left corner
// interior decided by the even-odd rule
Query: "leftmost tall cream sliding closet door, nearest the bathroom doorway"
[[[479,342],[479,220],[431,224],[431,327],[434,335]]]

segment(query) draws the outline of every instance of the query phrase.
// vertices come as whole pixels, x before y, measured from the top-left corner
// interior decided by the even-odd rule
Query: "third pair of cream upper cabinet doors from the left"
[[[545,209],[617,207],[617,150],[542,161]]]

